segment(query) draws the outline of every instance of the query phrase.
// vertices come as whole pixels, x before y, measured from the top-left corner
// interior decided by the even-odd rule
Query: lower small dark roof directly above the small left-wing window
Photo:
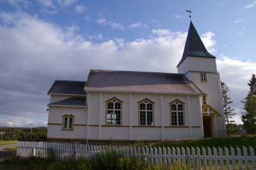
[[[85,106],[86,98],[82,97],[71,97],[61,101],[49,103],[51,106]]]

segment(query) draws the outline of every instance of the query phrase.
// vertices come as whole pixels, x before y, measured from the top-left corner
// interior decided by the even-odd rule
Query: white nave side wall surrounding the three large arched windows
[[[101,97],[100,97],[101,96]],[[122,101],[122,125],[106,125],[106,101],[110,98],[118,98]],[[202,138],[200,131],[200,104],[198,96],[163,95],[163,120],[161,118],[161,104],[159,94],[143,93],[98,93],[90,92],[90,125],[89,139],[98,140],[168,140],[184,138]],[[154,103],[154,126],[139,126],[138,102],[142,99],[150,99]],[[100,101],[101,99],[101,101]],[[185,126],[171,127],[170,102],[175,99],[185,103]],[[189,101],[188,101],[189,99]],[[188,111],[190,102],[190,113]],[[131,106],[130,106],[131,105]],[[100,108],[101,106],[101,108]],[[131,111],[130,111],[131,108]],[[101,122],[99,114],[101,110]],[[130,113],[132,121],[130,121]],[[189,122],[190,121],[190,122]],[[130,123],[131,122],[131,123]],[[163,126],[162,126],[163,122]],[[98,124],[100,123],[100,124]],[[189,131],[190,134],[189,134]],[[100,135],[98,135],[100,134]]]

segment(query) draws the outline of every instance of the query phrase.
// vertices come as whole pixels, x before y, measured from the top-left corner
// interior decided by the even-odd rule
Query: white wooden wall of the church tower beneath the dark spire
[[[185,74],[188,80],[207,94],[208,105],[212,106],[222,116],[216,118],[214,131],[218,136],[225,136],[225,117],[220,88],[220,74],[217,72],[216,59],[209,57],[187,57],[177,68],[178,73]],[[207,81],[202,82],[200,73],[207,74]],[[214,122],[215,123],[215,122]],[[217,134],[216,134],[217,136]]]

